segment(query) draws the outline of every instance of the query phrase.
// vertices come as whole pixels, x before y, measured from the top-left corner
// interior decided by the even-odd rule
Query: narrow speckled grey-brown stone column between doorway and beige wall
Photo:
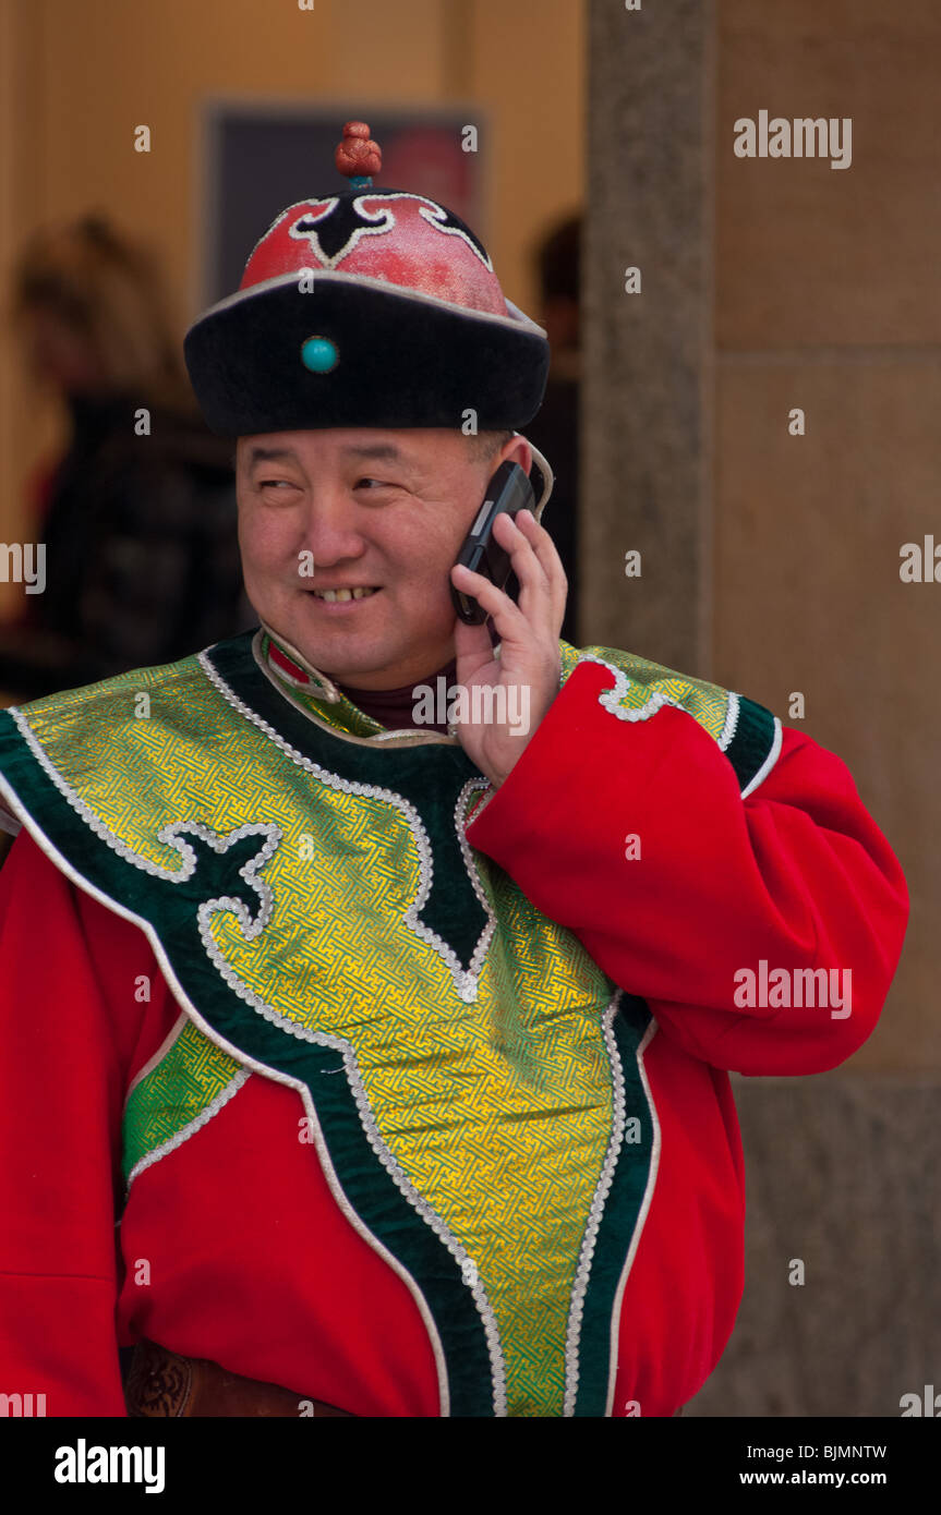
[[[712,0],[589,0],[579,641],[709,674]],[[624,291],[636,267],[641,292]],[[626,577],[624,554],[641,554]]]

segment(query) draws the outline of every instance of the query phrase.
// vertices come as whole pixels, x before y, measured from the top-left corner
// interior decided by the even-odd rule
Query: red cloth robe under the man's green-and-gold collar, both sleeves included
[[[624,1260],[612,1413],[671,1415],[715,1368],[742,1291],[726,1070],[849,1057],[896,971],[908,892],[832,753],[785,729],[742,800],[696,720],[612,720],[606,683],[577,670],[467,836],[658,1023],[656,1182]],[[852,1014],[741,1007],[735,974],[762,959],[852,970]],[[148,1336],[356,1415],[439,1415],[417,1304],[299,1142],[294,1089],[252,1074],[139,1173],[115,1232],[123,1101],[177,1017],[144,933],[23,832],[0,873],[0,1392],[124,1415],[117,1348]]]

